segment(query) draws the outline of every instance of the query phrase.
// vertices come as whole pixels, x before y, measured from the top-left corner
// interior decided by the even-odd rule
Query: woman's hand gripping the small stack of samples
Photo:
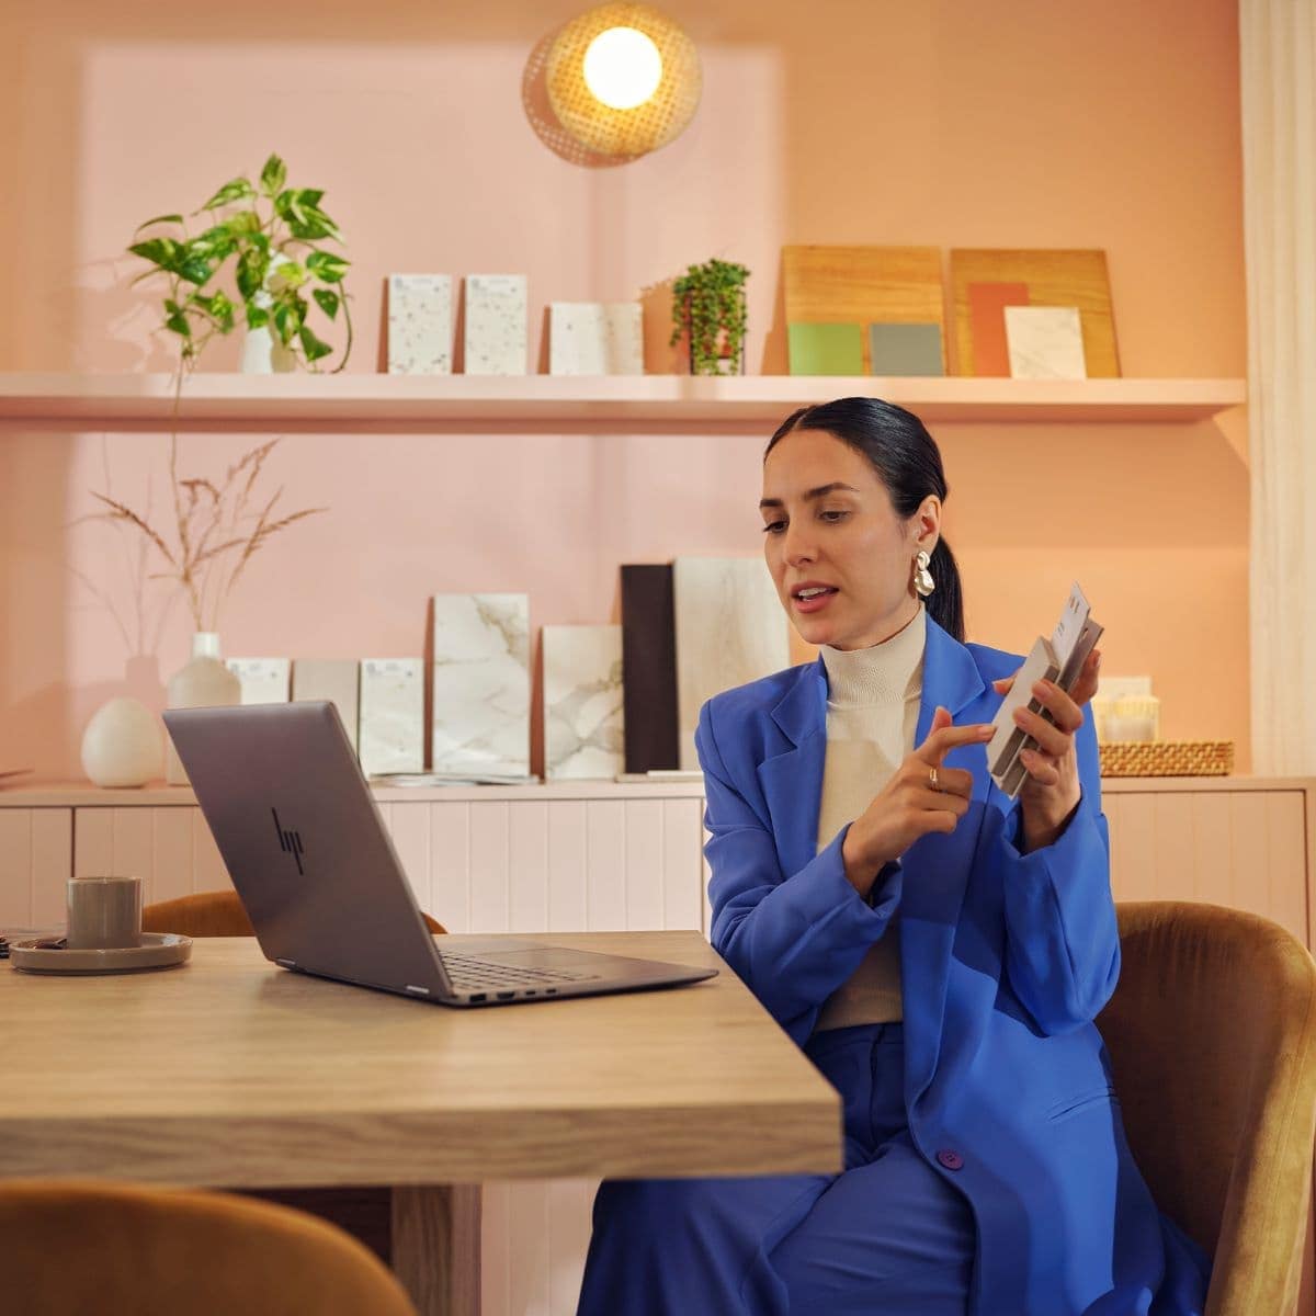
[[[1083,725],[1083,705],[1096,694],[1100,666],[1101,654],[1094,649],[1069,695],[1049,680],[1033,686],[1033,697],[1051,715],[1054,725],[1026,707],[1015,712],[1015,725],[1037,741],[1037,749],[1020,754],[1020,762],[1028,770],[1028,780],[1019,792],[1025,854],[1055,841],[1078,808],[1083,788],[1078,776],[1074,733]],[[992,682],[1000,695],[1013,684],[1013,676]]]

